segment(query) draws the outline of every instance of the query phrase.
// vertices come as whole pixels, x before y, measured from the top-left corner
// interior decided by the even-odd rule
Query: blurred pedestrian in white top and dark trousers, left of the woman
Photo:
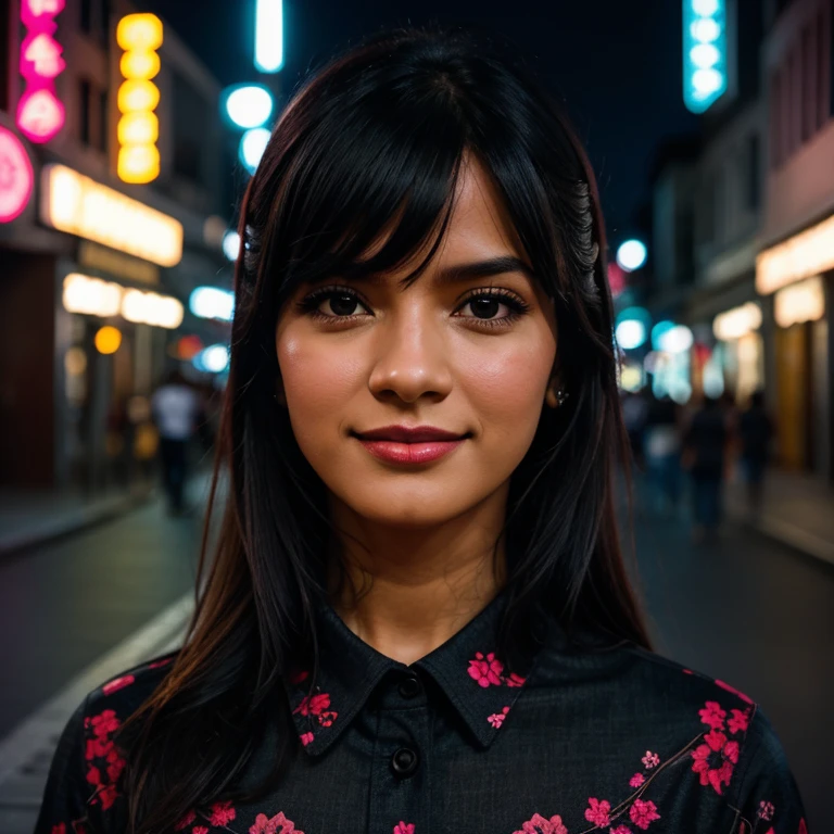
[[[172,370],[151,399],[153,421],[160,435],[162,480],[172,515],[185,509],[188,444],[201,412],[200,397],[179,370]]]

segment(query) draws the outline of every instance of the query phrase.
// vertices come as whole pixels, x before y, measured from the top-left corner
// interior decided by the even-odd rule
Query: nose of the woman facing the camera
[[[416,304],[379,327],[368,379],[374,396],[416,403],[440,401],[452,390],[452,370],[442,327]]]

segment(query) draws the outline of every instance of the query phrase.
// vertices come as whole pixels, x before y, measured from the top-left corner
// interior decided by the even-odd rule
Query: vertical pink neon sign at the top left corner
[[[21,43],[20,72],[26,89],[17,102],[16,123],[33,142],[48,142],[64,126],[64,105],[55,94],[55,78],[64,71],[63,47],[55,40],[55,17],[65,0],[21,0],[26,37]]]

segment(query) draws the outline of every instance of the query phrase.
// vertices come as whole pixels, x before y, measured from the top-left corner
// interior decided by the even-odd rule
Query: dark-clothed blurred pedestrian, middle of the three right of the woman
[[[720,402],[706,396],[683,440],[684,465],[692,478],[693,536],[697,541],[713,536],[721,522],[726,441],[726,417]]]

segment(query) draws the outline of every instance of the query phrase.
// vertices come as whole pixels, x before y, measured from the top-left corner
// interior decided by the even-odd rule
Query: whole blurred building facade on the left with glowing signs
[[[0,2],[9,55],[0,167],[16,172],[0,176],[5,486],[128,484],[152,454],[149,396],[181,358],[180,345],[226,337],[224,326],[188,309],[197,286],[230,283],[219,86],[163,22],[153,78],[160,173],[147,185],[122,181],[116,26],[132,12],[122,0]],[[33,46],[40,34],[59,52],[48,39]],[[37,77],[59,68],[48,81]],[[37,130],[54,113],[22,110],[41,87],[64,110],[63,125],[43,142],[24,127],[30,117]],[[26,176],[25,205],[3,216]]]

